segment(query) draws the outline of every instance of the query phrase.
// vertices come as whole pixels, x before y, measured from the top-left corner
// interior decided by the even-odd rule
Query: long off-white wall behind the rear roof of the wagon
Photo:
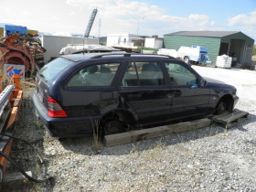
[[[43,36],[42,46],[47,51],[44,53],[44,60],[48,62],[51,58],[58,58],[61,48],[67,47],[68,44],[85,44],[99,45],[99,38],[83,37],[60,37],[60,36]]]

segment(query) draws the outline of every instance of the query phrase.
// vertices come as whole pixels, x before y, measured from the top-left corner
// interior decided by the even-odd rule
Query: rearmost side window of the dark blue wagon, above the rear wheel
[[[120,63],[91,65],[70,78],[68,88],[110,86]]]

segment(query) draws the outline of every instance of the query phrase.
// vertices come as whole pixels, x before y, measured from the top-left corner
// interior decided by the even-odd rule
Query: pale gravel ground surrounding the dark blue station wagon
[[[217,124],[193,132],[105,147],[93,138],[58,140],[37,120],[31,88],[25,91],[11,157],[48,183],[27,182],[23,191],[256,191],[256,71],[194,67],[200,74],[238,88],[236,108],[248,120],[226,130]],[[11,165],[8,173],[16,172]]]

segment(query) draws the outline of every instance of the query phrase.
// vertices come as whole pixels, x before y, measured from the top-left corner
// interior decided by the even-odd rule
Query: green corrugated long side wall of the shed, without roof
[[[186,37],[186,36],[164,36],[165,48],[176,49],[181,46],[201,46],[207,48],[211,65],[216,65],[216,59],[219,55],[220,38],[217,37]]]

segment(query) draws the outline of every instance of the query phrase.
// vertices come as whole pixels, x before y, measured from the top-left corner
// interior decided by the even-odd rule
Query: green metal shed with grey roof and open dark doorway
[[[207,48],[211,66],[216,65],[217,56],[229,55],[232,65],[251,65],[254,39],[240,31],[178,31],[164,35],[165,48],[178,49],[181,46]]]

